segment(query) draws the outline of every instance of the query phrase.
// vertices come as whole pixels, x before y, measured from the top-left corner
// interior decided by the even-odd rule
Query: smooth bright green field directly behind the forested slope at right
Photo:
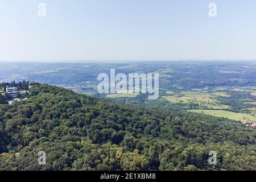
[[[247,122],[247,121],[255,121],[256,118],[253,117],[250,114],[245,114],[245,113],[234,113],[231,111],[225,111],[225,110],[207,110],[207,109],[195,109],[195,110],[188,110],[193,113],[202,113],[202,114],[208,114],[208,115],[213,115],[216,117],[224,117],[228,119],[233,119],[236,121],[242,121],[242,122]]]

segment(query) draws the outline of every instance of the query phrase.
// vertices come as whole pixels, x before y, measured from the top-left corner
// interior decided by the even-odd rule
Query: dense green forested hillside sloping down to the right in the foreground
[[[256,170],[255,139],[240,122],[134,109],[49,85],[0,105],[0,170]]]

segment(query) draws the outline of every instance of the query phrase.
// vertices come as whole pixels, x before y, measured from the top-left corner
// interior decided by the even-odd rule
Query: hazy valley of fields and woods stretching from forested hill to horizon
[[[150,64],[18,63],[15,67],[2,63],[0,69],[0,81],[21,81],[26,77],[28,79],[30,75],[31,80],[36,82],[61,86],[77,93],[126,105],[158,107],[167,112],[216,110],[215,116],[219,115],[219,111],[229,111],[256,117],[256,64],[250,61],[173,61]],[[109,73],[110,69],[115,69],[115,74],[159,73],[159,99],[151,102],[145,94],[138,93],[99,94],[97,75]],[[238,117],[238,121],[250,121],[250,117]]]

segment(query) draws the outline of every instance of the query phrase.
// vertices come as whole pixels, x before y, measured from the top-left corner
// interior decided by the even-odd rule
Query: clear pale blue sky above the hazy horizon
[[[0,0],[0,61],[256,60],[255,50],[255,0]]]

